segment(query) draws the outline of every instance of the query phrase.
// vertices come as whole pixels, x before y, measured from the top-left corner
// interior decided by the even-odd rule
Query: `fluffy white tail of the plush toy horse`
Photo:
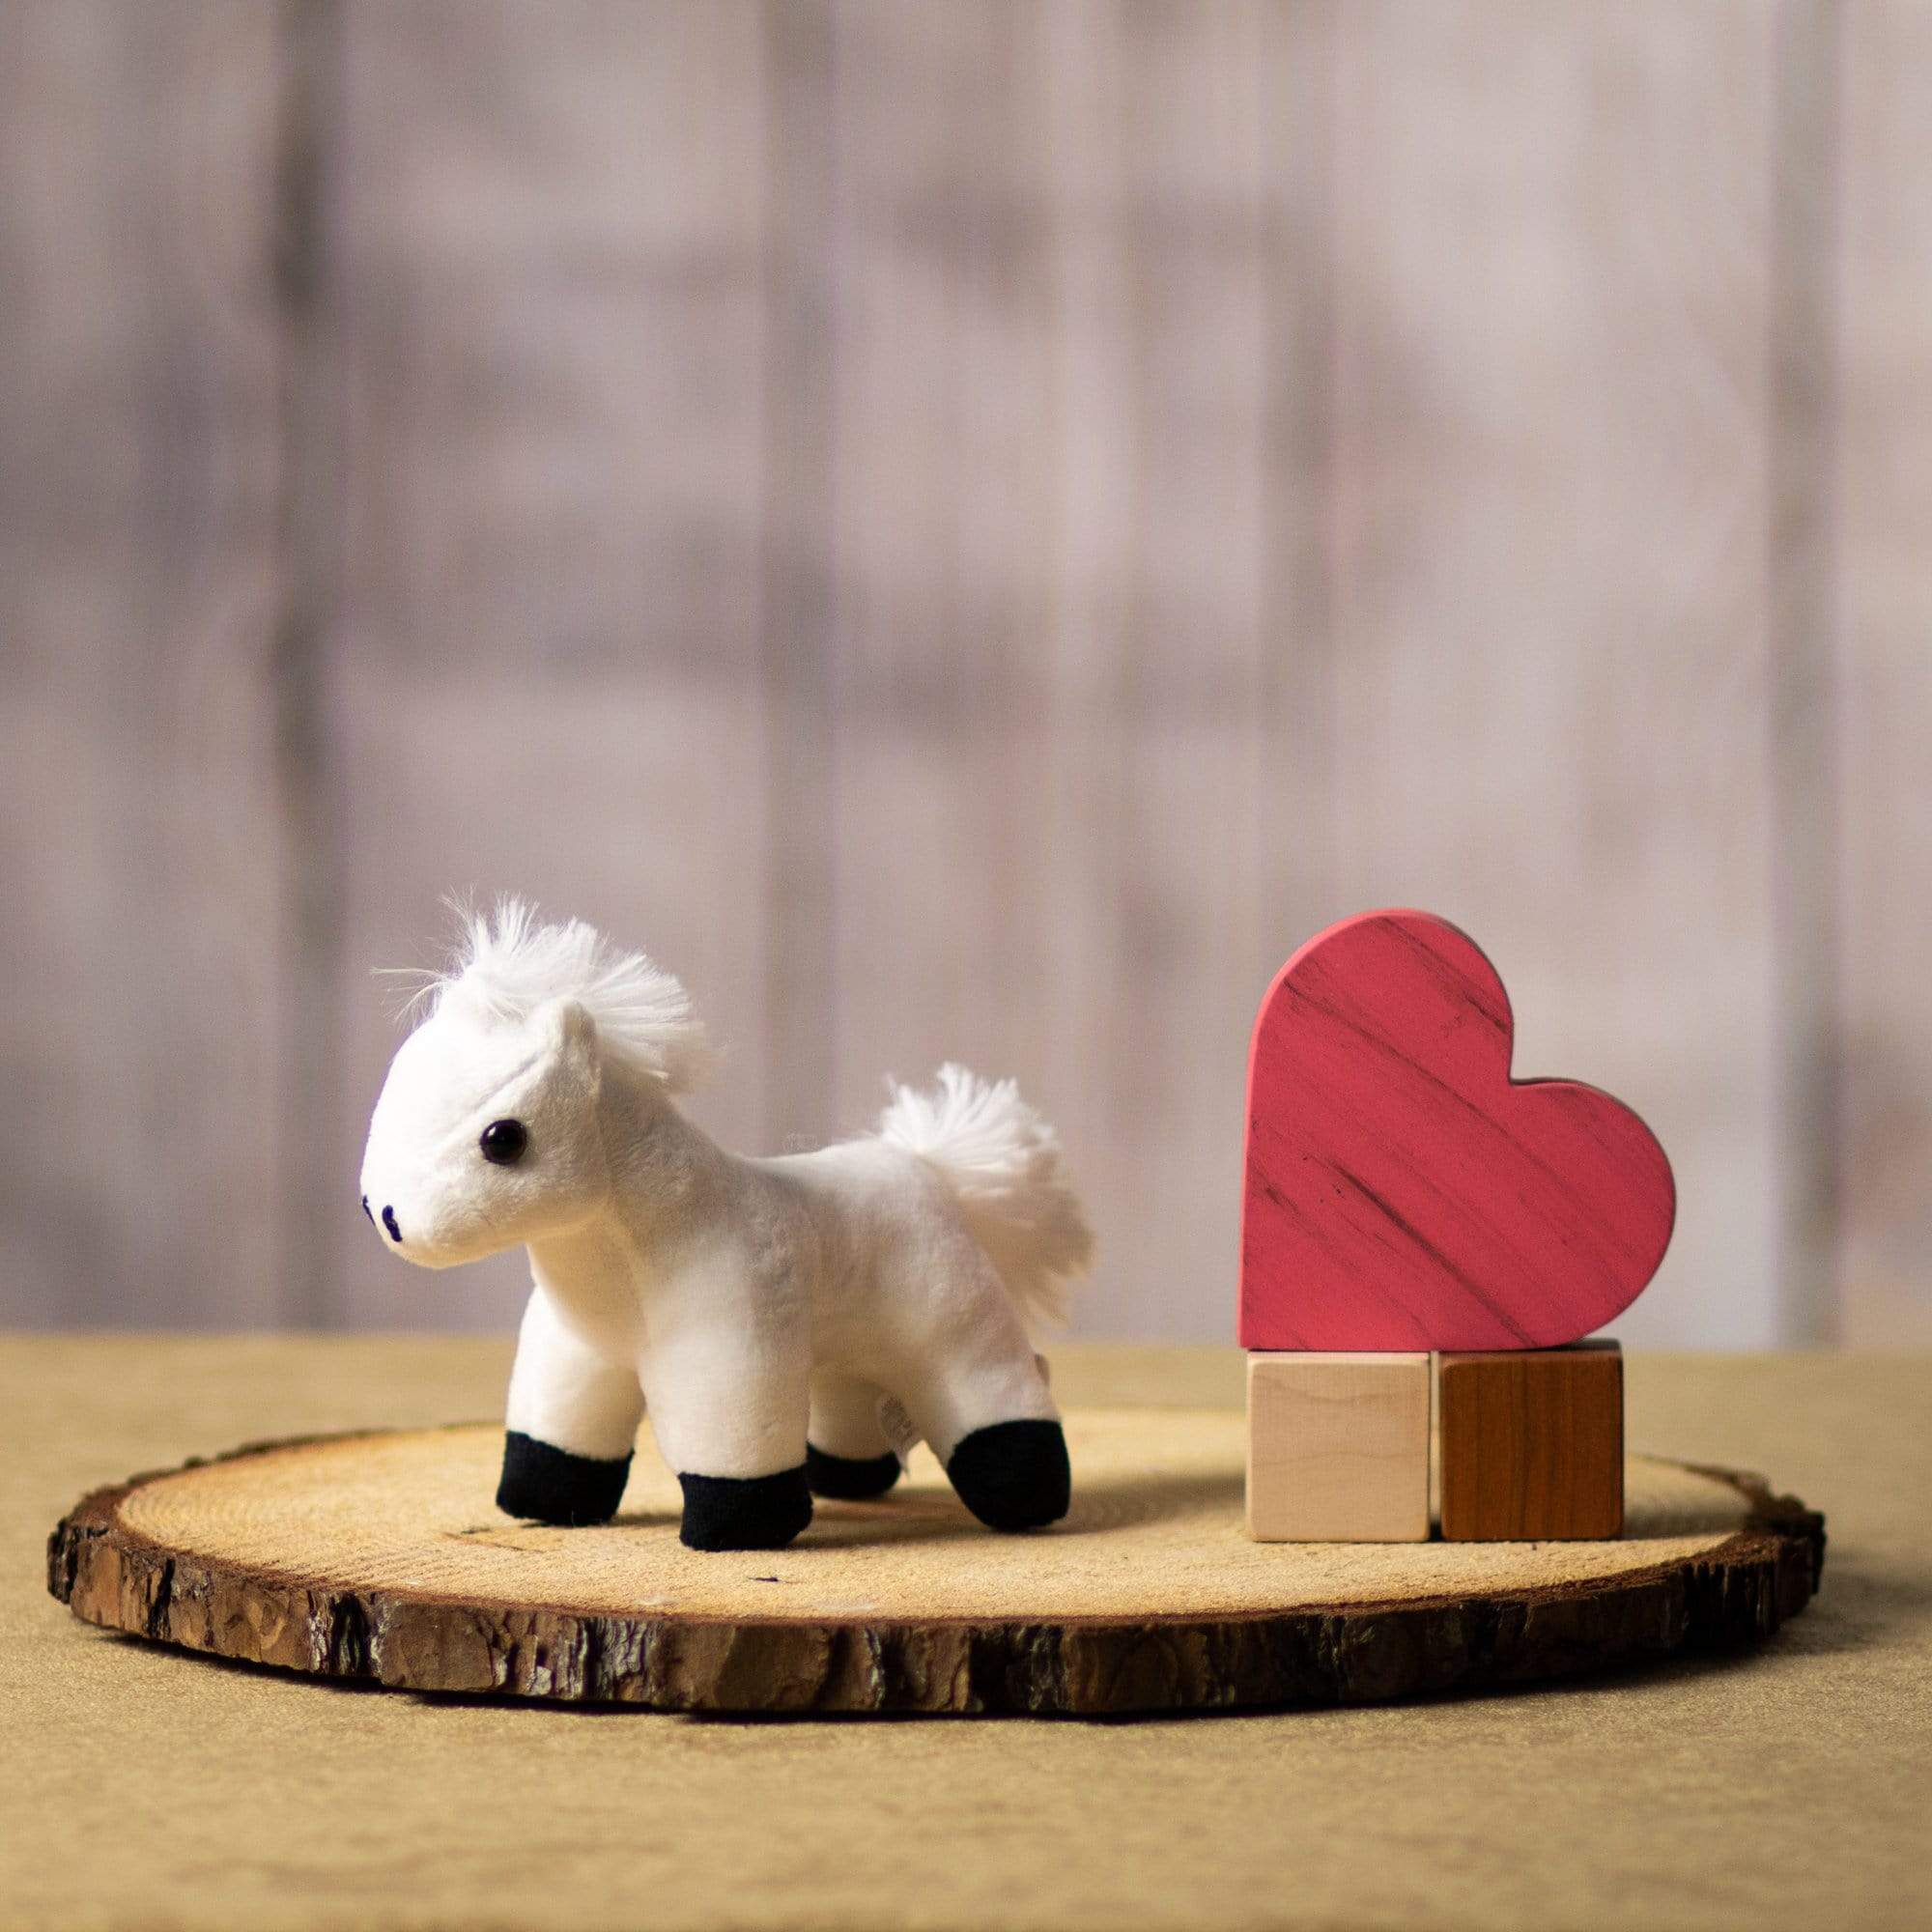
[[[945,1175],[1028,1327],[1065,1320],[1066,1285],[1094,1260],[1094,1231],[1059,1136],[1012,1080],[981,1080],[949,1061],[935,1092],[893,1088],[877,1134]]]

